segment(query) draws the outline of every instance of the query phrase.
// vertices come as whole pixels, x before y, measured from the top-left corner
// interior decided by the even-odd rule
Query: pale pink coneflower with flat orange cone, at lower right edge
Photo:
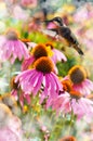
[[[69,93],[71,97],[71,108],[74,114],[77,115],[77,118],[80,119],[83,116],[93,118],[93,102],[87,98],[83,98],[78,91],[74,90]]]

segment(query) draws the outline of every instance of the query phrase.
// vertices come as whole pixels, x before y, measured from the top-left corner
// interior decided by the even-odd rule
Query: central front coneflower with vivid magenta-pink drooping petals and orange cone
[[[54,65],[50,57],[42,56],[35,62],[35,68],[22,72],[15,79],[19,81],[22,90],[26,93],[32,92],[36,95],[41,88],[41,101],[44,98],[56,98],[62,85],[53,73]]]

